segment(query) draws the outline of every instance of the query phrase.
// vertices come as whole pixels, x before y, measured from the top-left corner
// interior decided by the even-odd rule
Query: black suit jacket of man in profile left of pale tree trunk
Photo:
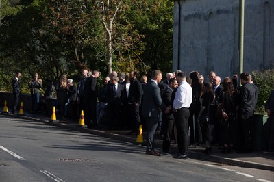
[[[88,99],[88,101],[94,103],[97,101],[98,94],[97,78],[92,76],[88,77],[84,85],[84,99]]]

